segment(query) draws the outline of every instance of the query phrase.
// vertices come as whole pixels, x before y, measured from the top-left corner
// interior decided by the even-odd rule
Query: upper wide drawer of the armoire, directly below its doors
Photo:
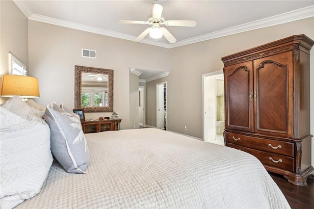
[[[294,157],[293,143],[226,132],[226,142],[270,153]]]

